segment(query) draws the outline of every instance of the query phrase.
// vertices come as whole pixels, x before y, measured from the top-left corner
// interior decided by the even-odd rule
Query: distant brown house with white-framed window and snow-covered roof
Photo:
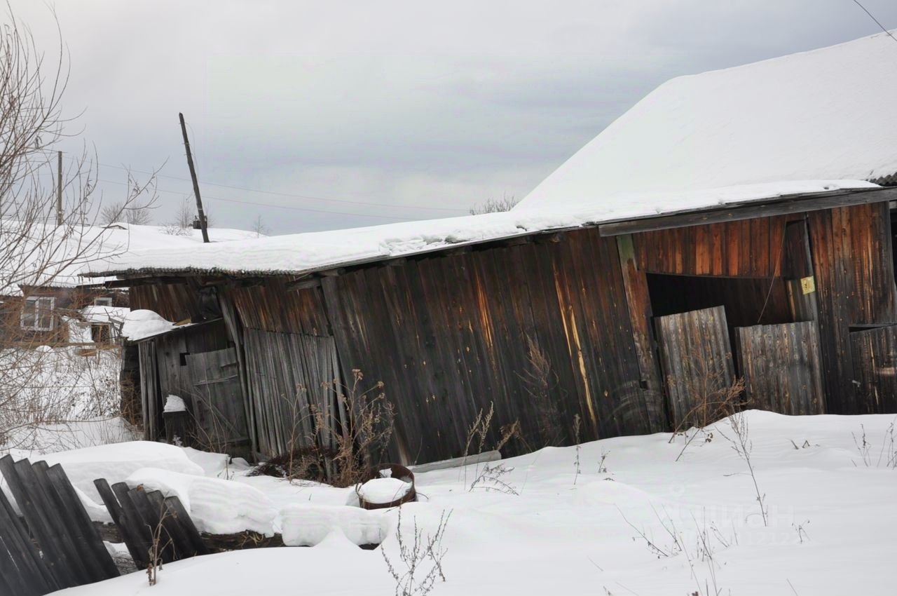
[[[126,310],[127,289],[110,288],[103,279],[85,283],[88,280],[80,276],[83,268],[131,251],[188,248],[202,242],[200,232],[193,229],[171,233],[168,227],[128,223],[51,233],[39,234],[40,241],[51,246],[41,247],[36,241],[34,247],[18,247],[23,263],[14,264],[13,283],[0,297],[4,333],[22,345],[109,343],[116,335],[115,320],[121,312],[111,319],[106,315],[114,312],[108,309]],[[214,241],[257,237],[255,232],[217,228],[210,233]]]

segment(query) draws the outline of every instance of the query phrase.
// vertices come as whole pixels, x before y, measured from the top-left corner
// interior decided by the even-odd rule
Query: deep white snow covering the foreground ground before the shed
[[[418,490],[429,500],[403,506],[403,536],[411,539],[414,522],[424,535],[434,531],[440,514],[451,511],[441,545],[448,581],[436,584],[431,593],[437,595],[897,592],[897,469],[888,466],[895,416],[745,416],[769,527],[763,526],[745,461],[721,436],[731,435],[721,421],[709,429],[710,442],[699,436],[679,461],[684,438],[668,443],[669,434],[503,460],[513,471],[502,480],[518,495],[471,491],[482,465],[419,474]],[[602,454],[606,472],[598,470]],[[339,513],[346,511],[351,488],[246,478],[239,466],[215,464],[222,459],[189,455],[206,475],[227,476],[264,493],[281,512],[275,524],[286,528],[284,534],[291,512],[342,529],[294,524],[293,531],[317,545],[181,561],[166,565],[152,587],[144,573],[135,573],[60,593],[395,592],[381,554],[384,549],[397,563],[395,510],[376,514],[383,545],[362,550],[345,537],[356,530],[355,522]],[[325,505],[332,507],[322,515]],[[699,546],[701,537],[706,548]]]

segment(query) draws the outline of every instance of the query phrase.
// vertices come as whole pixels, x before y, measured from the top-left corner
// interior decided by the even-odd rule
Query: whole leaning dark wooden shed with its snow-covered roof
[[[361,369],[403,462],[684,428],[754,408],[897,411],[897,68],[882,35],[661,85],[508,213],[129,254],[146,436],[170,394],[271,456]],[[335,383],[333,381],[336,381]],[[313,438],[307,437],[307,441]]]

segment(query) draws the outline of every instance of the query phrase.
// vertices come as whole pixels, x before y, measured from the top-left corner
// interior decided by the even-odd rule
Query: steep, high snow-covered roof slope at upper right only
[[[779,180],[897,184],[895,72],[897,44],[883,32],[677,77],[606,127],[520,206]]]

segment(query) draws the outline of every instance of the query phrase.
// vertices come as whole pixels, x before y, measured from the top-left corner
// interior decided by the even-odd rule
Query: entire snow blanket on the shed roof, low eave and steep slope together
[[[302,274],[583,225],[875,188],[897,172],[882,35],[661,85],[506,213],[129,251],[92,275]],[[100,266],[100,267],[98,267]]]

